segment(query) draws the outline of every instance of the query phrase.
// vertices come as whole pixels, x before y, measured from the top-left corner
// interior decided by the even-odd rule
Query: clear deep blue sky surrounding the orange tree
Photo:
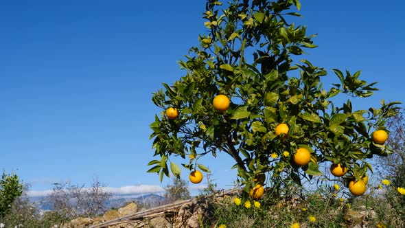
[[[303,1],[303,18],[293,20],[319,45],[303,58],[329,71],[325,84],[336,82],[332,68],[378,81],[357,109],[404,102],[403,8],[399,0]],[[117,189],[161,190],[167,181],[146,174],[148,126],[161,111],[152,92],[185,74],[176,61],[206,32],[204,11],[202,0],[1,2],[0,168],[32,191],[93,176]],[[232,165],[222,155],[209,162],[218,187],[231,187]]]

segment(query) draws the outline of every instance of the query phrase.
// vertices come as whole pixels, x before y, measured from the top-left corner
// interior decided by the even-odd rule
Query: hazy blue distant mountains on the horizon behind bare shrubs
[[[45,201],[44,196],[33,196],[30,197],[30,201],[38,207],[38,209],[42,211],[51,211],[53,205]],[[165,198],[163,196],[159,196],[158,194],[146,194],[146,195],[116,195],[112,196],[109,201],[106,202],[107,208],[119,208],[126,203],[135,202],[137,203],[138,207],[143,208],[150,208],[150,207],[157,207],[159,205],[163,205],[165,203]]]

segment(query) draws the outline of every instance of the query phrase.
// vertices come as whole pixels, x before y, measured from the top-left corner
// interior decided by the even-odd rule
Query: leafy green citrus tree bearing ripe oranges
[[[182,165],[190,171],[209,172],[198,159],[225,152],[248,192],[263,184],[260,174],[301,183],[321,175],[318,166],[325,161],[340,164],[357,181],[372,171],[367,159],[391,151],[373,142],[372,133],[385,130],[398,102],[357,111],[350,100],[336,105],[336,95],[369,97],[375,82],[359,79],[360,71],[332,69],[338,80],[323,89],[325,69],[292,59],[316,47],[305,26],[287,21],[300,16],[291,9],[300,6],[297,0],[207,1],[207,34],[179,61],[185,76],[163,83],[153,95],[162,112],[150,125],[150,139],[160,159],[150,161],[148,172],[161,180],[170,172],[179,176],[173,156],[185,159]],[[165,115],[172,109],[178,115]]]

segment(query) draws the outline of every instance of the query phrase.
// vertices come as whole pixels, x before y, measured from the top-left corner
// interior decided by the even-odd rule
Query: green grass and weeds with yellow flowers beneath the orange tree
[[[299,196],[281,195],[266,190],[258,201],[260,207],[255,207],[246,196],[214,201],[214,209],[205,219],[205,227],[264,228],[293,227],[293,224],[299,224],[299,227],[405,227],[403,210],[398,211],[399,208],[392,207],[385,196],[375,196],[373,192],[354,198],[343,190],[321,186],[314,192]],[[240,205],[235,203],[235,198],[240,199]],[[245,207],[246,201],[251,202],[251,207]]]

